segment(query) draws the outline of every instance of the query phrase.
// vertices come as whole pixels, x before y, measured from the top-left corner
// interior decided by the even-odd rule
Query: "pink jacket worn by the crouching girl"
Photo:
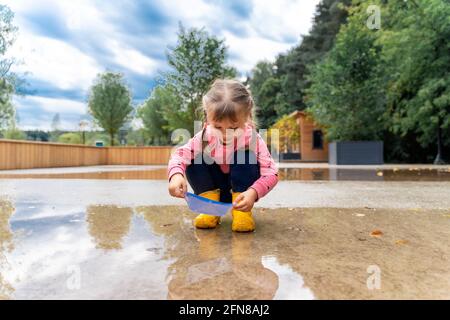
[[[237,149],[248,147],[255,152],[260,167],[261,177],[251,186],[258,194],[258,199],[264,197],[275,187],[278,182],[277,166],[267,149],[266,143],[250,124],[246,125],[243,134],[235,139],[235,143],[227,145],[223,145],[212,133],[212,130],[209,125],[204,129],[205,153],[220,165],[222,172],[229,172],[229,164],[233,161],[233,154]],[[203,130],[198,132],[185,145],[178,147],[173,153],[167,170],[169,181],[176,173],[185,175],[186,166],[191,164],[192,159],[202,152],[202,134]]]

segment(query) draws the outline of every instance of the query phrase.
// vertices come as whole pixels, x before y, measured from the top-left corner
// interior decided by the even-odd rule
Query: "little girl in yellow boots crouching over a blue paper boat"
[[[277,168],[253,121],[253,98],[236,80],[214,81],[203,97],[203,130],[169,161],[169,193],[183,198],[186,178],[195,194],[233,203],[232,230],[255,230],[251,210],[278,182]],[[215,228],[220,217],[200,214],[197,228]]]

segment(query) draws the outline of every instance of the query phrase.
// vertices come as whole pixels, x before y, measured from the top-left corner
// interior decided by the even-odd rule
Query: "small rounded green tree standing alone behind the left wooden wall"
[[[89,93],[88,110],[114,145],[114,136],[133,111],[131,93],[122,74],[106,72],[97,76]]]

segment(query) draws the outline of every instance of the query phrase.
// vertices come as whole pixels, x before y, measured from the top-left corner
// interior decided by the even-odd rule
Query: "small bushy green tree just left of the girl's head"
[[[151,96],[139,107],[137,115],[142,120],[145,135],[154,145],[165,145],[170,142],[168,130],[170,119],[172,126],[182,127],[186,119],[179,113],[181,99],[167,86],[157,86]]]

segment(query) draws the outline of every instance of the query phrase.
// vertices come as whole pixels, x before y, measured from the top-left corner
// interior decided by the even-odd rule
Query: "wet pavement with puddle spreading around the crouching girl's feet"
[[[98,170],[57,171],[40,174]],[[152,178],[0,179],[0,299],[450,298],[445,179],[288,179],[257,203],[250,234],[232,233],[229,215],[195,230],[166,188]]]

